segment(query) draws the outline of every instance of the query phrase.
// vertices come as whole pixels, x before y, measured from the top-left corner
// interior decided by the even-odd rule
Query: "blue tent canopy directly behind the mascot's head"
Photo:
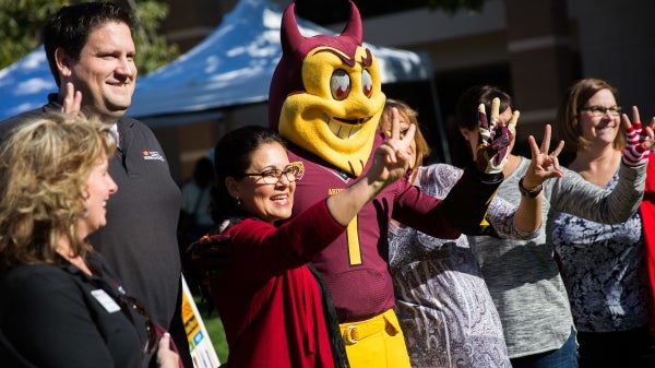
[[[241,0],[202,43],[142,79],[129,114],[136,117],[206,111],[265,102],[282,57],[282,9],[267,0]],[[303,35],[334,34],[298,19]],[[382,83],[427,80],[419,55],[368,45]]]

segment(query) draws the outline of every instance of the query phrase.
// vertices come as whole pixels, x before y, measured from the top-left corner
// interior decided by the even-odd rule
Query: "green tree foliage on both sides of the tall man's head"
[[[0,0],[0,69],[5,68],[41,43],[41,28],[59,8],[80,1],[68,0]],[[134,43],[136,67],[141,75],[162,67],[179,56],[177,45],[157,33],[168,14],[168,5],[158,0],[117,1],[132,9],[136,20]]]

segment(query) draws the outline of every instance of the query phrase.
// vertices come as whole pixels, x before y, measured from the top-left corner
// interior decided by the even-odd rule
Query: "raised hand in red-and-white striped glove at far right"
[[[644,165],[648,162],[651,146],[653,145],[653,127],[642,127],[636,106],[632,107],[634,123],[626,114],[622,115],[626,127],[626,147],[623,149],[623,164],[630,167]],[[655,122],[655,118],[651,124]]]

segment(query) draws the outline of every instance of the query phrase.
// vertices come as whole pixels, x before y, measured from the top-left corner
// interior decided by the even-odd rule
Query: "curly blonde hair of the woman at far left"
[[[86,215],[84,191],[97,161],[116,143],[109,126],[48,112],[14,128],[0,145],[0,269],[26,263],[62,264],[58,240],[72,256],[92,248],[76,235]]]

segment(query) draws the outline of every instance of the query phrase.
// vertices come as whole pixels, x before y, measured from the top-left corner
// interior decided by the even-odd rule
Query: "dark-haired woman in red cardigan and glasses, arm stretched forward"
[[[225,327],[228,365],[348,366],[334,308],[308,263],[366,203],[405,174],[414,129],[401,138],[394,123],[365,176],[326,199],[317,198],[290,219],[303,165],[289,163],[277,132],[249,126],[218,141],[212,215],[219,225],[194,247],[200,257],[214,252],[226,258],[224,269],[210,270],[210,284]]]

